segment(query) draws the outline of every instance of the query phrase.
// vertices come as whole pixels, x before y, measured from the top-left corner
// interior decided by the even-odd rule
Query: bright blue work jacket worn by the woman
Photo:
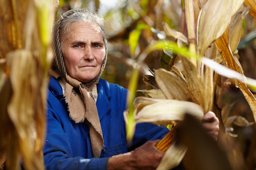
[[[46,169],[106,169],[109,157],[128,151],[123,120],[127,89],[100,79],[97,90],[96,105],[105,146],[98,159],[93,158],[88,128],[69,118],[62,88],[55,78],[50,79],[44,146]],[[154,124],[137,124],[129,149],[133,150],[146,141],[161,139],[168,131],[167,128]]]

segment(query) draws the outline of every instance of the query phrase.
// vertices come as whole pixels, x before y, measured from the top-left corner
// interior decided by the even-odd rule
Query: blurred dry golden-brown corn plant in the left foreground
[[[0,1],[0,166],[44,169],[55,1]]]

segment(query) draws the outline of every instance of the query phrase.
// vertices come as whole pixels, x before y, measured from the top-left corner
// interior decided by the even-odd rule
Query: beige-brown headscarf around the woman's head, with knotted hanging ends
[[[80,82],[79,80],[72,78],[67,74],[64,58],[61,52],[60,29],[64,27],[61,25],[61,22],[63,22],[65,19],[75,18],[77,16],[85,16],[89,22],[94,22],[99,25],[102,31],[106,51],[100,72],[96,78],[88,83]],[[94,158],[100,157],[101,150],[104,147],[104,140],[100,119],[98,117],[96,101],[94,100],[91,90],[98,83],[102,71],[105,68],[107,58],[106,36],[104,33],[104,28],[100,23],[97,23],[97,19],[97,15],[93,15],[86,10],[70,10],[65,12],[61,18],[57,20],[53,28],[54,61],[52,69],[49,71],[50,76],[53,76],[56,79],[61,79],[65,82],[64,97],[65,102],[68,104],[69,117],[76,123],[84,122],[88,126]],[[68,27],[69,26],[70,25],[68,25]]]

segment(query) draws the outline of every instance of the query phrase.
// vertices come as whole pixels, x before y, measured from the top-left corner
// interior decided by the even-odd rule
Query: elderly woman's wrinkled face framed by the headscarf
[[[68,74],[90,82],[100,72],[106,53],[100,28],[93,23],[75,23],[63,41],[62,53]]]

